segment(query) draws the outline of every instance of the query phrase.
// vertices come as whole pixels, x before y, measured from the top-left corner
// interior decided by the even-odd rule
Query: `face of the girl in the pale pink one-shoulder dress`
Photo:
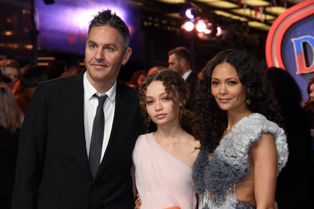
[[[146,90],[146,111],[157,125],[176,126],[179,123],[180,99],[178,94],[170,99],[161,81],[153,81]]]

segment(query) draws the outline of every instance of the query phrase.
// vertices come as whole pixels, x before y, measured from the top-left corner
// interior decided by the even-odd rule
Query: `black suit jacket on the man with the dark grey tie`
[[[92,178],[84,72],[39,83],[19,138],[13,209],[132,208],[132,151],[143,124],[136,91],[117,81],[108,146]]]

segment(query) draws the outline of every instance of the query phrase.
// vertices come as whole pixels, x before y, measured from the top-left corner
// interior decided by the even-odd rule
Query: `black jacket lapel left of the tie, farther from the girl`
[[[84,131],[84,72],[73,77],[68,88],[58,94],[58,104],[62,115],[63,126],[71,150],[86,176],[92,180],[86,152]]]

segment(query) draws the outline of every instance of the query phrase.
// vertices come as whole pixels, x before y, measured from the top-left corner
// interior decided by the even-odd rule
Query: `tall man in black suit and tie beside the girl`
[[[86,70],[37,85],[19,139],[13,209],[133,208],[132,151],[143,117],[116,78],[132,50],[110,9],[90,22]]]

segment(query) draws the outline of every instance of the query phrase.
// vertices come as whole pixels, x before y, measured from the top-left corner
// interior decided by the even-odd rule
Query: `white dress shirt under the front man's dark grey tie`
[[[84,129],[85,129],[85,141],[86,141],[86,152],[87,156],[89,156],[89,147],[90,147],[90,138],[92,136],[93,122],[94,117],[96,115],[96,109],[98,106],[98,99],[93,97],[94,94],[100,95],[97,90],[89,83],[86,72],[84,73],[83,78],[84,83]],[[115,104],[116,104],[116,84],[115,82],[113,86],[105,93],[108,95],[104,103],[104,113],[105,113],[105,131],[104,131],[104,141],[102,143],[101,157],[104,157],[104,153],[106,151],[109,137],[111,133],[112,123],[113,123],[113,115],[115,113]],[[103,95],[103,94],[101,94]]]

